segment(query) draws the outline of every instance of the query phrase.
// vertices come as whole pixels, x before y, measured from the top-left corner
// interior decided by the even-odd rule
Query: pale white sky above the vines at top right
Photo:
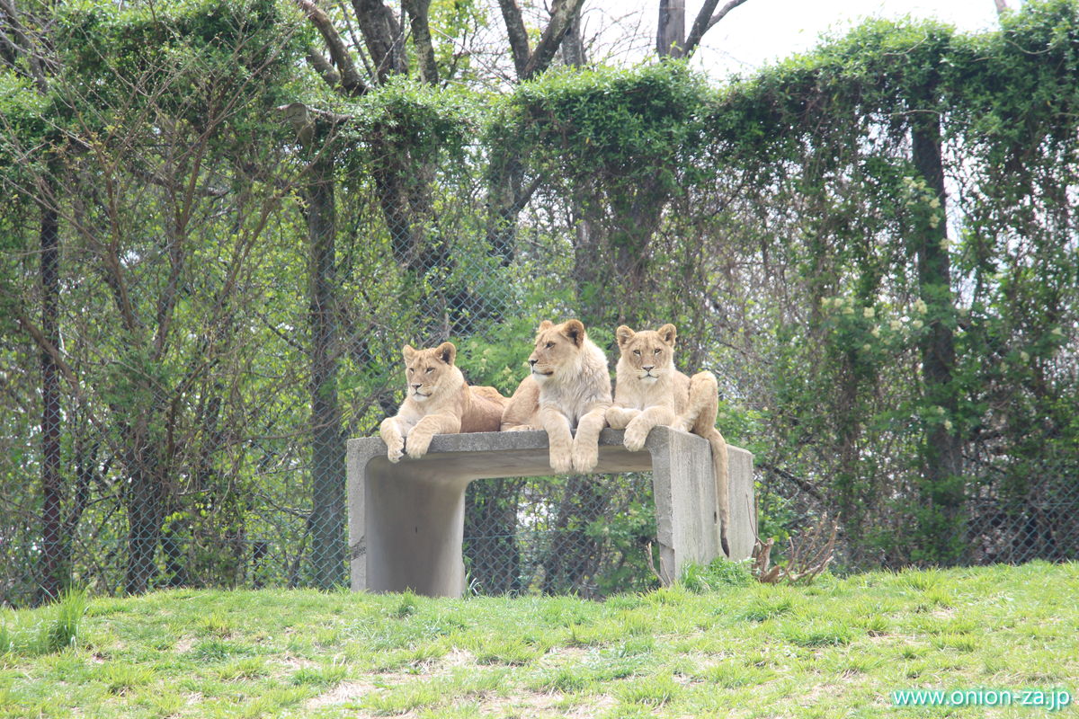
[[[726,0],[721,0],[720,6]],[[1017,8],[1020,0],[1008,0]],[[586,0],[585,32],[609,24],[640,24],[655,37],[658,0]],[[686,31],[701,0],[686,0]],[[589,10],[590,9],[590,10]],[[994,0],[748,0],[705,34],[694,64],[713,78],[747,73],[819,43],[822,33],[842,33],[865,17],[937,18],[961,30],[997,26]],[[632,54],[632,53],[628,53]]]

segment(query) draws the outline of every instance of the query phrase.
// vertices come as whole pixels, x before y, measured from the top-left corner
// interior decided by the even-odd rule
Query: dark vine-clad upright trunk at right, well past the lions
[[[921,301],[928,308],[928,328],[920,347],[924,401],[930,409],[943,409],[939,419],[930,419],[925,427],[919,535],[931,541],[925,548],[926,556],[923,558],[947,564],[958,559],[962,551],[965,493],[961,444],[958,430],[951,423],[958,410],[958,397],[953,378],[954,337],[945,318],[951,317],[955,308],[946,249],[939,116],[935,113],[920,114],[914,121],[911,137],[914,165],[931,196],[940,204],[939,208],[926,207],[915,227],[918,287]]]

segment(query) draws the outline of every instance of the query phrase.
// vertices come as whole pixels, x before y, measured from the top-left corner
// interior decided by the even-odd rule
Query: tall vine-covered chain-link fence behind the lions
[[[1079,555],[1075,2],[498,92],[342,92],[270,0],[50,12],[43,61],[0,55],[0,600],[339,585],[343,443],[400,346],[508,395],[570,316],[612,359],[678,324],[762,535],[838,511],[848,570]],[[650,586],[650,507],[476,483],[473,587]]]

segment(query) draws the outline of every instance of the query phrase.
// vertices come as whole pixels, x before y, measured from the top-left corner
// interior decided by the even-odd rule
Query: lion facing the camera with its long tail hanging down
[[[615,332],[618,340],[618,367],[614,404],[606,411],[606,421],[614,429],[626,430],[626,448],[640,452],[648,432],[656,425],[667,425],[708,440],[715,472],[715,498],[720,509],[720,542],[730,556],[727,527],[730,522],[727,478],[727,443],[715,429],[719,391],[715,376],[700,372],[687,377],[674,369],[673,324],[656,331],[633,332],[625,324]]]

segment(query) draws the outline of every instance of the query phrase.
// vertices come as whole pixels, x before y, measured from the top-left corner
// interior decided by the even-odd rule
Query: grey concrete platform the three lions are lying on
[[[660,575],[722,553],[711,450],[695,434],[656,427],[643,452],[622,444],[623,430],[600,434],[597,474],[652,472]],[[547,433],[438,434],[426,456],[386,459],[381,438],[349,441],[349,544],[353,591],[461,596],[462,539],[469,482],[547,476]],[[729,447],[732,558],[750,555],[756,537],[753,455]]]

